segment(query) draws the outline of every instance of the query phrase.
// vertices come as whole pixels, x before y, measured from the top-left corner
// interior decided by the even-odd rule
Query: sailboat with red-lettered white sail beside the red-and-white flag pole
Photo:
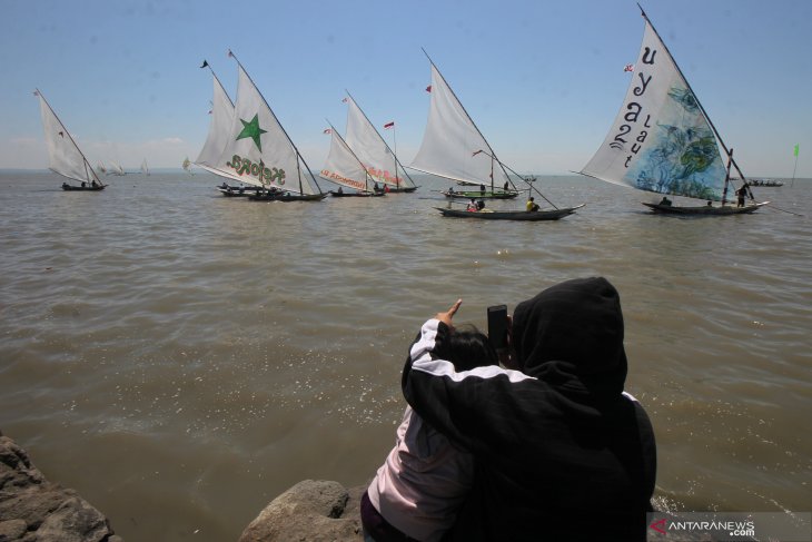
[[[367,173],[376,181],[386,185],[389,193],[413,193],[417,190],[417,185],[406,173],[395,151],[389,148],[380,132],[369,121],[369,118],[358,107],[349,92],[347,92],[345,101],[348,106],[345,140]],[[398,166],[403,177],[398,174]]]

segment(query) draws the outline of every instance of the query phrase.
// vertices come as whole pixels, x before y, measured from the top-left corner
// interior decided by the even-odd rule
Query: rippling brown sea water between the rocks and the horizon
[[[537,223],[445,218],[433,177],[318,203],[226,198],[202,173],[106,180],[0,171],[0,431],[128,542],[236,541],[299,481],[368,483],[426,319],[462,298],[455,321],[484,329],[489,305],[587,276],[621,294],[656,505],[812,507],[812,179],[680,218],[539,176],[543,207],[585,206]]]

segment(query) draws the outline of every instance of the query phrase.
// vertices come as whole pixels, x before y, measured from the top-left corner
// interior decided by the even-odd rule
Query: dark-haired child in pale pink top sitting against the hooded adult
[[[498,365],[488,337],[474,326],[449,331],[455,371]],[[453,446],[407,406],[396,444],[362,497],[364,534],[375,541],[439,541],[474,483],[474,457]]]

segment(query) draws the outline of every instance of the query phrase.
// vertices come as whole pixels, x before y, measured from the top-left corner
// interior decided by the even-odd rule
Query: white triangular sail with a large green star
[[[303,170],[303,165],[304,160],[274,111],[239,65],[234,121],[226,147],[212,169],[218,175],[255,186],[319,194],[320,190],[314,188],[314,185],[318,187],[316,179],[306,166]]]

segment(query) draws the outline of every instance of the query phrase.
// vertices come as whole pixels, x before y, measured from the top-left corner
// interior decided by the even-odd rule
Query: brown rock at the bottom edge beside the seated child
[[[305,480],[274,499],[242,531],[239,542],[360,541],[360,497],[366,486]]]

